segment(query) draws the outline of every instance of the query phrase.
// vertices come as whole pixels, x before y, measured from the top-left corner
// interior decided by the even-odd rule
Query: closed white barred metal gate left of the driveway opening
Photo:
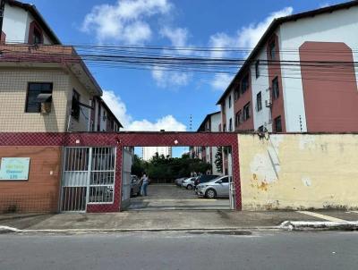
[[[85,212],[90,204],[112,204],[115,148],[64,148],[62,212]]]

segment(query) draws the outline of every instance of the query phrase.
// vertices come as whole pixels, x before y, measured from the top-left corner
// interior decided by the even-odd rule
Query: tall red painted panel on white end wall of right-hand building
[[[300,60],[307,131],[358,131],[358,89],[351,48],[341,42],[305,42]]]

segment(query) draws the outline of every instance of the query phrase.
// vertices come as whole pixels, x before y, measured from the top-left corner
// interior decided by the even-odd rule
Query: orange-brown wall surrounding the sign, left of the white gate
[[[56,212],[61,147],[0,147],[1,157],[30,157],[29,181],[0,181],[0,213]]]

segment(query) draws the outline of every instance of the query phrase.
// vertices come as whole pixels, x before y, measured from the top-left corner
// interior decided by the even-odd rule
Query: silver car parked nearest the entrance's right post
[[[198,196],[205,198],[229,198],[231,176],[225,175],[197,186]]]

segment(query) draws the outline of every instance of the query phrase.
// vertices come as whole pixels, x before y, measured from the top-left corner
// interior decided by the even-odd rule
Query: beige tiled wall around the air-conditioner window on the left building
[[[25,113],[29,82],[53,83],[51,113]],[[0,69],[0,131],[64,132],[68,89],[69,76],[59,69]]]

